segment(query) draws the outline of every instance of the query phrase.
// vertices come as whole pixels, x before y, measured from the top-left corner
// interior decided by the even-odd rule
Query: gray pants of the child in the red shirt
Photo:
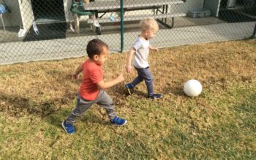
[[[66,119],[67,124],[73,124],[76,119],[78,119],[80,116],[83,115],[83,113],[91,107],[94,103],[97,103],[101,107],[105,108],[108,114],[108,118],[112,121],[116,116],[116,111],[113,105],[113,100],[110,98],[107,92],[100,89],[99,95],[97,96],[96,100],[84,100],[80,95],[78,94],[77,97],[77,104],[75,106],[75,109],[72,111],[72,113],[69,115],[69,117]]]

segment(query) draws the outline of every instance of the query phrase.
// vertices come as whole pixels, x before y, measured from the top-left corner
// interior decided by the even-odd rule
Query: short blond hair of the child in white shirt
[[[159,26],[157,21],[152,17],[147,17],[145,20],[140,21],[141,31],[158,31]]]

